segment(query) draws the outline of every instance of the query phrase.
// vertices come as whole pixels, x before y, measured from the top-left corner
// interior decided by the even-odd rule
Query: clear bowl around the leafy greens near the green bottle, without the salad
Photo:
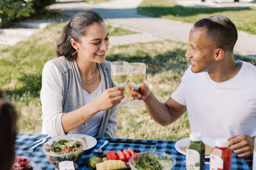
[[[153,152],[145,151],[145,152],[135,153],[135,155],[133,155],[129,159],[128,164],[129,164],[131,170],[137,170],[137,168],[136,168],[137,160],[139,159],[139,157],[145,156],[146,153],[152,154]],[[154,160],[158,160],[158,158],[162,159],[162,161],[161,161],[162,162],[161,165],[163,166],[162,170],[171,170],[172,167],[174,167],[176,165],[176,160],[174,159],[174,157],[172,155],[169,155],[165,152],[154,152],[153,154],[154,154],[154,156],[153,157],[150,156],[150,158],[153,158]],[[171,161],[163,160],[166,158]],[[149,168],[149,167],[147,167],[147,168]],[[154,167],[150,167],[150,168],[154,169]]]

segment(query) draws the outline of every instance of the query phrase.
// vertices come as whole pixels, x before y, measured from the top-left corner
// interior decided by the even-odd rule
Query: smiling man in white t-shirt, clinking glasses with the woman
[[[256,67],[234,61],[236,40],[237,30],[227,17],[199,20],[190,30],[185,54],[191,66],[171,97],[159,102],[146,84],[139,93],[129,84],[130,96],[143,100],[160,125],[170,125],[187,110],[192,132],[227,138],[239,157],[251,155],[256,136]]]

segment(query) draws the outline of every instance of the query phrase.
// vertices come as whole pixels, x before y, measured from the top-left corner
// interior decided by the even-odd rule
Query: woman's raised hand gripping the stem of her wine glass
[[[124,87],[113,87],[106,89],[103,93],[95,100],[97,102],[97,109],[99,111],[108,110],[119,104],[124,98]]]

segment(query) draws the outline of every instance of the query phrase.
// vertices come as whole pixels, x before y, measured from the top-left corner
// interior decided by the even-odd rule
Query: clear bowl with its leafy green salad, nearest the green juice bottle
[[[131,170],[172,170],[176,160],[165,152],[145,151],[135,153],[128,164]]]

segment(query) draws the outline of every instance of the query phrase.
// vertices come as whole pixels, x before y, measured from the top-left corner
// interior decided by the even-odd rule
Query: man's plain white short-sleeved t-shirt
[[[192,132],[203,137],[256,136],[256,67],[243,62],[237,75],[215,82],[191,66],[171,97],[187,107]]]

